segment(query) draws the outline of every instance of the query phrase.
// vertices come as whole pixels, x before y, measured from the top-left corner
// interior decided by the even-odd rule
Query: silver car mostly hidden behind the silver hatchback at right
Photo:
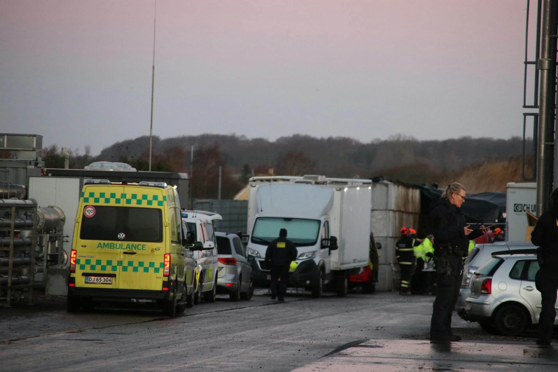
[[[531,241],[497,241],[492,244],[477,244],[471,250],[464,263],[463,279],[459,289],[459,297],[455,305],[455,311],[464,320],[469,320],[465,313],[465,298],[471,294],[469,281],[473,274],[487,262],[493,254],[509,253],[535,253],[535,245]]]

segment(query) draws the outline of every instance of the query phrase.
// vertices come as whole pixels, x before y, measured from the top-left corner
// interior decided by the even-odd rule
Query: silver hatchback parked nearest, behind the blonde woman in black
[[[489,333],[504,336],[521,335],[528,326],[538,323],[541,313],[541,293],[535,287],[538,268],[535,254],[490,258],[471,278],[471,293],[465,299],[469,320],[478,321]],[[554,324],[558,324],[558,318]]]

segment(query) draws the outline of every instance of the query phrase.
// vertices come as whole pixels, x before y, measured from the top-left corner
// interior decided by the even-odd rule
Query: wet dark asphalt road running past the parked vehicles
[[[348,343],[389,344],[427,334],[433,300],[382,292],[321,299],[292,294],[278,303],[261,289],[251,301],[219,296],[174,319],[153,311],[22,307],[1,316],[0,310],[0,370],[290,371],[345,355]],[[454,326],[478,327],[458,317]],[[427,344],[398,347],[412,355],[412,347],[420,354]],[[375,370],[365,364],[364,370]]]

